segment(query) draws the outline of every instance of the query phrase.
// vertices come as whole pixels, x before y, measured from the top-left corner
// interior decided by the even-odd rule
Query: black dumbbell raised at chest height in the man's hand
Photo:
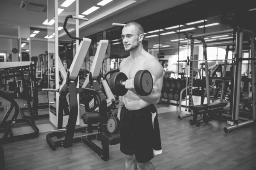
[[[128,89],[125,88],[125,81],[128,77],[122,73],[114,73],[110,78],[110,89],[116,96],[124,96]],[[153,90],[153,78],[148,70],[139,70],[134,77],[134,88],[140,96],[148,96]]]

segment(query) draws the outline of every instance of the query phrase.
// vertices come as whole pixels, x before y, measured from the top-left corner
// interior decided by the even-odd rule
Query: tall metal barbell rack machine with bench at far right
[[[203,37],[218,35],[218,34],[227,34],[227,33],[233,33],[233,36],[236,37],[236,39],[233,37],[233,41],[234,41],[234,39],[236,40],[233,43],[221,44],[221,45],[235,45],[235,58],[231,59],[232,61],[234,61],[234,68],[233,68],[234,78],[232,79],[232,77],[230,77],[230,78],[225,77],[226,68],[224,68],[224,73],[223,73],[224,77],[209,77],[209,74],[207,74],[208,73],[208,61],[218,61],[218,60],[207,60],[207,45],[206,45],[206,42],[205,42]],[[243,44],[248,43],[248,42],[243,41],[244,33],[247,33],[250,36],[251,58],[242,58]],[[209,120],[211,120],[213,117],[216,116],[215,115],[216,113],[220,113],[222,111],[222,109],[227,105],[226,102],[222,102],[223,95],[221,96],[221,102],[210,103],[210,101],[209,101],[209,99],[210,99],[209,98],[209,80],[210,79],[215,79],[215,80],[218,79],[218,80],[222,80],[222,81],[233,80],[233,91],[232,91],[232,93],[233,92],[234,93],[231,94],[231,96],[233,96],[233,99],[230,101],[230,111],[229,111],[229,113],[232,114],[232,116],[231,116],[231,120],[227,121],[231,126],[224,127],[224,131],[229,132],[230,130],[236,129],[238,127],[254,123],[255,119],[256,119],[256,99],[255,98],[253,98],[253,105],[252,105],[252,114],[253,114],[253,116],[252,116],[252,119],[249,119],[247,121],[239,123],[239,104],[240,104],[240,88],[241,88],[241,64],[242,64],[242,61],[244,61],[244,60],[256,60],[256,57],[255,57],[255,43],[254,43],[255,36],[254,36],[253,32],[237,27],[235,29],[226,30],[226,31],[218,31],[218,32],[207,33],[207,34],[198,34],[198,35],[189,35],[189,36],[186,36],[186,38],[188,39],[188,43],[189,43],[189,39],[191,39],[191,56],[190,56],[190,59],[189,59],[189,57],[187,57],[187,60],[185,60],[185,62],[187,62],[187,67],[190,64],[190,77],[189,77],[189,112],[190,112],[190,114],[187,114],[187,115],[181,115],[180,114],[178,116],[179,119],[182,119],[184,117],[193,116],[193,120],[190,120],[190,124],[199,126],[200,121],[197,120],[198,113],[203,113],[203,119],[202,120],[204,122],[208,122]],[[196,106],[192,105],[192,89],[193,89],[193,87],[192,87],[192,85],[193,85],[192,64],[193,64],[194,61],[199,61],[199,60],[193,60],[194,40],[200,40],[203,43],[205,71],[206,71],[206,94],[207,94],[207,104],[196,105]],[[225,60],[224,65],[227,65],[227,60],[228,59],[226,58],[224,60]],[[221,61],[223,61],[223,60],[221,60]],[[184,61],[178,61],[178,62],[184,62]],[[251,84],[252,84],[252,96],[254,96],[255,93],[256,93],[256,70],[255,70],[255,65],[256,65],[256,62],[251,62],[251,67],[252,67],[252,82],[251,82]],[[224,88],[224,86],[222,88]],[[192,115],[192,110],[194,112],[193,115]],[[209,119],[207,119],[207,117],[206,117],[207,114],[210,115]]]

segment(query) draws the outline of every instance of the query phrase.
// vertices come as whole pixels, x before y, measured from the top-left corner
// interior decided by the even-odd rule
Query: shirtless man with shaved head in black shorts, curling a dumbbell
[[[117,114],[120,120],[120,150],[125,154],[125,170],[137,170],[137,163],[141,170],[155,170],[150,161],[154,157],[151,108],[160,100],[163,67],[143,49],[143,33],[143,27],[136,22],[127,23],[122,29],[125,51],[130,51],[130,56],[119,65],[120,72],[128,77],[125,82],[128,92],[119,96]],[[133,79],[137,71],[145,69],[153,77],[153,90],[148,96],[140,96],[134,89]]]

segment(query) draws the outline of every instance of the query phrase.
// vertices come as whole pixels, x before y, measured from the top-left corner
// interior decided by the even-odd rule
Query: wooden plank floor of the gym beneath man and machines
[[[17,101],[20,106],[24,102]],[[209,125],[203,123],[195,127],[189,124],[192,117],[178,119],[177,110],[176,106],[169,104],[157,105],[163,153],[151,160],[156,170],[256,169],[256,127],[248,125],[224,133],[223,127],[228,124],[216,120]],[[0,119],[3,114],[0,113]],[[37,125],[48,123],[49,119],[36,121]],[[84,143],[52,151],[46,142],[49,130],[40,131],[42,133],[36,139],[2,145],[5,170],[124,169],[125,157],[119,150],[119,144],[110,146],[110,159],[103,161]],[[95,143],[100,146],[100,142],[95,140]]]

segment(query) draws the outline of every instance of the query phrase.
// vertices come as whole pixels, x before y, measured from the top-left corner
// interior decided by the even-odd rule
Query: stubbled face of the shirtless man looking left
[[[125,51],[131,51],[140,46],[140,36],[138,35],[137,28],[133,25],[124,27],[122,29],[122,40]]]

